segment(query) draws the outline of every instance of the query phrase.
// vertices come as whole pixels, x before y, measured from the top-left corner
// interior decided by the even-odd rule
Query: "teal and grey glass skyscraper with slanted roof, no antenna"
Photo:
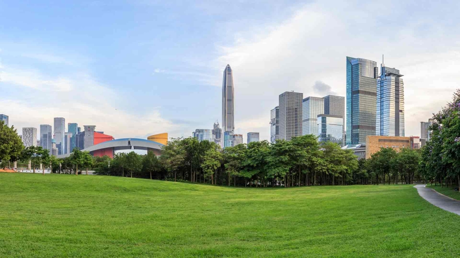
[[[347,144],[365,144],[375,136],[377,63],[347,57]]]

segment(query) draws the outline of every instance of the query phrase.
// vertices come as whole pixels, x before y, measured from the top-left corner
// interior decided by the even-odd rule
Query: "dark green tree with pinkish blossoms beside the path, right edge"
[[[430,141],[422,149],[421,174],[435,184],[460,186],[460,89],[433,118]]]

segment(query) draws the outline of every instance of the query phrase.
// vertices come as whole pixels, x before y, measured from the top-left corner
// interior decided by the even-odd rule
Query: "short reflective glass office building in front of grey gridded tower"
[[[320,142],[334,142],[343,146],[343,117],[321,114],[317,116],[317,128]]]

